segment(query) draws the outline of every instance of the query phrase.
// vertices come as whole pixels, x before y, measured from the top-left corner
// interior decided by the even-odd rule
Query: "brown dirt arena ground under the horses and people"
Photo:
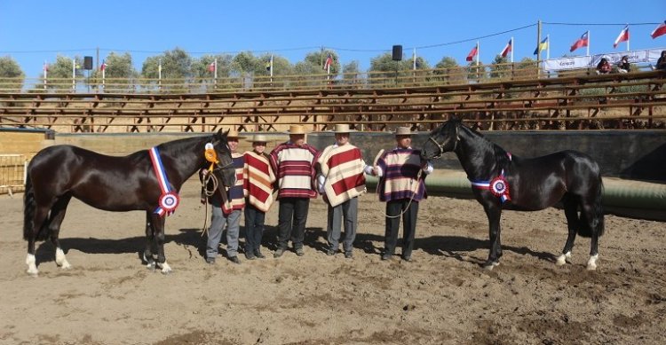
[[[304,257],[273,258],[275,206],[266,259],[211,266],[202,257],[198,184],[188,182],[181,197],[167,220],[170,275],[139,260],[143,213],[72,200],[61,239],[73,269],[60,270],[54,248],[40,243],[33,278],[22,195],[0,196],[0,343],[666,343],[664,223],[607,216],[599,269],[586,271],[589,239],[578,239],[573,263],[554,264],[567,237],[563,212],[505,211],[502,264],[484,271],[488,225],[474,200],[424,200],[415,260],[405,263],[380,260],[384,204],[373,194],[361,197],[353,259],[325,255],[320,198]]]

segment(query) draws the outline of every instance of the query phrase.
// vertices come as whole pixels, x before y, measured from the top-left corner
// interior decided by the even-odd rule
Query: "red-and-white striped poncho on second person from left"
[[[246,152],[242,175],[243,193],[248,198],[248,203],[260,211],[268,212],[273,204],[275,182],[275,174],[268,157],[264,153]]]

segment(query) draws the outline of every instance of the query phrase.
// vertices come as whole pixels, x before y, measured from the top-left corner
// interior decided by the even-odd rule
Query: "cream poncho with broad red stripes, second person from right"
[[[330,145],[319,157],[321,173],[326,177],[325,198],[336,207],[366,191],[363,169],[365,162],[358,147]]]

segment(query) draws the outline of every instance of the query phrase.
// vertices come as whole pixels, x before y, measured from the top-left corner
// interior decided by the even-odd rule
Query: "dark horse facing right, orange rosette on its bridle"
[[[38,273],[36,240],[51,239],[56,247],[56,263],[63,269],[71,267],[60,248],[58,235],[72,197],[107,211],[145,210],[147,266],[155,268],[152,250],[155,246],[157,265],[163,273],[169,273],[171,269],[164,256],[164,211],[178,206],[180,187],[199,169],[214,168],[214,175],[222,184],[234,185],[227,133],[220,129],[210,136],[174,140],[124,157],[72,145],[54,145],[37,153],[28,165],[23,196],[28,273]],[[154,153],[152,157],[150,152]],[[161,161],[155,167],[163,167],[158,170],[163,170],[165,179],[158,181],[154,161]],[[163,192],[164,189],[167,191]]]

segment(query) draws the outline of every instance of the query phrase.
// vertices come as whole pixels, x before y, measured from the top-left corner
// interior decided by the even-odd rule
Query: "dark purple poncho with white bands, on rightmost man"
[[[427,198],[425,176],[416,181],[421,170],[421,151],[411,148],[395,148],[384,153],[377,161],[383,176],[379,181],[379,200],[391,201],[410,199],[415,201]]]

